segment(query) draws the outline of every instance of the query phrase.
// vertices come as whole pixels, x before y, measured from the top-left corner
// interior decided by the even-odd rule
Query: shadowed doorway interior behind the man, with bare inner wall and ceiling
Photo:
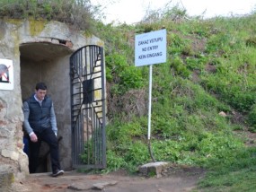
[[[35,84],[44,82],[53,100],[57,118],[59,157],[64,170],[72,168],[69,57],[73,51],[65,43],[30,42],[20,45],[22,101],[34,93]],[[40,147],[37,172],[50,172],[49,147]]]

